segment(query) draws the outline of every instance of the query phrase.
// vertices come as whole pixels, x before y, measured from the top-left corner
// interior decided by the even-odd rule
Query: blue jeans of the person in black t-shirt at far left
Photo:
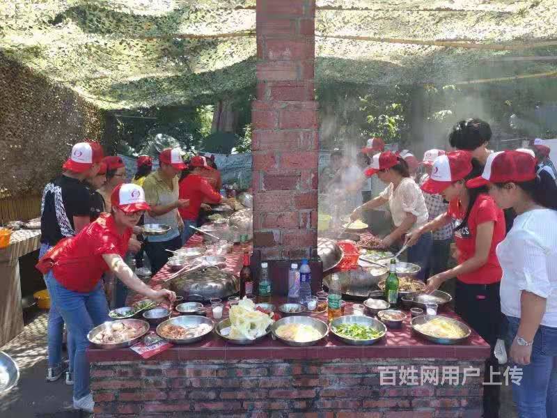
[[[39,251],[39,258],[42,258],[46,252],[52,247],[48,244],[41,244]],[[52,276],[46,274],[43,276],[49,295],[52,295]],[[48,312],[48,325],[47,325],[47,347],[48,347],[48,366],[58,367],[62,363],[62,343],[64,338],[64,320],[58,312],[56,303],[50,297],[50,309]],[[70,371],[72,371],[72,357],[74,353],[74,344],[68,332],[68,340],[66,343],[68,347],[68,358],[70,359]]]

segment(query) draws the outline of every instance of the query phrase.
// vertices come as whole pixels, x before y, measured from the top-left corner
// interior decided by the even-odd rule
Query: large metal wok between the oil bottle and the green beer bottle
[[[340,289],[345,297],[367,299],[370,291],[377,289],[379,281],[386,279],[389,270],[382,268],[358,267],[353,270],[337,272]],[[329,288],[332,274],[323,277],[323,285]]]

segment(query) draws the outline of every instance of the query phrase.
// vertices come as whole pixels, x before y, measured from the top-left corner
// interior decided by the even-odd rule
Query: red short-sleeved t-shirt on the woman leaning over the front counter
[[[132,229],[127,229],[123,235],[119,235],[112,215],[102,213],[95,222],[86,226],[77,235],[56,245],[56,247],[63,247],[61,251],[53,251],[56,247],[51,250],[53,251],[51,254],[54,254],[52,255],[54,277],[70,291],[83,293],[93,291],[102,274],[109,270],[102,255],[125,256],[131,236]]]

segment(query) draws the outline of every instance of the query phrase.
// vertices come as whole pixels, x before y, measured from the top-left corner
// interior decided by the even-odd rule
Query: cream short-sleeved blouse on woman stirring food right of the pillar
[[[409,231],[427,224],[428,214],[425,199],[423,199],[420,187],[411,178],[403,178],[400,185],[394,190],[393,183],[390,183],[380,196],[389,200],[389,208],[395,226],[398,227],[402,224],[407,213],[416,215],[418,218]]]

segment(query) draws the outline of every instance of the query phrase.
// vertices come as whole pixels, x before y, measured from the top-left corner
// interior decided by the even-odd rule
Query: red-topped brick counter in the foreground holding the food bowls
[[[242,251],[235,247],[227,257],[235,274]],[[150,286],[168,274],[164,268]],[[150,359],[129,348],[88,350],[95,417],[480,417],[487,357],[489,346],[476,332],[460,345],[441,346],[414,335],[409,316],[372,346],[350,346],[331,334],[308,347],[271,336],[237,346],[212,333]],[[437,370],[438,382],[421,382],[424,370]]]

